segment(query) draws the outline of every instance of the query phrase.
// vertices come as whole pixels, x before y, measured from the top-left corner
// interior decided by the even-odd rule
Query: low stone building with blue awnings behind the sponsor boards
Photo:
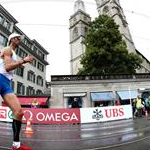
[[[140,89],[150,93],[150,74],[102,76],[51,76],[51,108],[71,108],[74,101],[79,107],[99,107],[130,104],[141,95]],[[146,93],[147,94],[147,93]],[[149,95],[149,94],[148,94]]]

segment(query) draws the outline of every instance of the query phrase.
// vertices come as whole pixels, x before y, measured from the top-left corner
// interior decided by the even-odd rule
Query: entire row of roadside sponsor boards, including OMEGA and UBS
[[[81,109],[23,108],[23,111],[23,123],[30,120],[37,124],[92,123],[132,118],[131,105]],[[12,111],[8,107],[0,106],[0,121],[12,122],[12,118]]]

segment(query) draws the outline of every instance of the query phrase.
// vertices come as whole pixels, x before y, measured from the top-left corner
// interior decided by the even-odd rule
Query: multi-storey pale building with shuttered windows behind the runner
[[[49,53],[36,40],[29,39],[16,24],[17,20],[0,5],[0,49],[7,45],[8,36],[16,32],[24,35],[16,50],[18,57],[34,56],[31,64],[25,64],[14,71],[12,87],[17,95],[42,94],[46,89],[46,66]]]

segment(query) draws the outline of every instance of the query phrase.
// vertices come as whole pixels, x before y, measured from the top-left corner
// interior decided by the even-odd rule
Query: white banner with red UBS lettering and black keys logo
[[[132,118],[131,105],[81,108],[81,123],[103,122]]]

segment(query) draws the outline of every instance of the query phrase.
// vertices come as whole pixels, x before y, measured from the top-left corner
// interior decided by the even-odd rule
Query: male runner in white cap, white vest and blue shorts
[[[23,112],[21,105],[13,90],[10,82],[13,78],[13,70],[21,67],[25,63],[30,63],[33,56],[28,55],[23,59],[18,59],[15,50],[21,42],[22,36],[12,33],[8,38],[8,46],[3,48],[0,53],[0,95],[13,112],[13,144],[11,150],[32,150],[32,148],[24,146],[20,143],[19,135],[21,129],[21,120]]]

